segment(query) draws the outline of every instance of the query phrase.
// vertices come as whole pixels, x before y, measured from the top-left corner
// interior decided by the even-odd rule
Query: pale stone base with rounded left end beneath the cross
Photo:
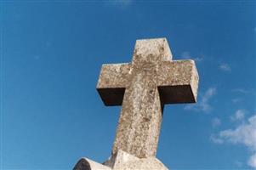
[[[138,158],[125,151],[118,150],[103,164],[89,160],[80,159],[73,170],[168,170],[156,157]]]

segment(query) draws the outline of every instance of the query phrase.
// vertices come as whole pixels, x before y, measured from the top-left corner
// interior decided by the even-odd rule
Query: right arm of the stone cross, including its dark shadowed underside
[[[162,103],[195,103],[198,80],[199,77],[193,60],[162,62],[157,80]]]

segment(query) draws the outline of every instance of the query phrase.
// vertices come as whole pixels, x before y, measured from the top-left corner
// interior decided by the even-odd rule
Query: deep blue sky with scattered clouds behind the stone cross
[[[255,1],[1,1],[1,168],[71,169],[111,153],[121,107],[95,90],[139,38],[195,59],[195,105],[166,105],[171,169],[256,168]]]

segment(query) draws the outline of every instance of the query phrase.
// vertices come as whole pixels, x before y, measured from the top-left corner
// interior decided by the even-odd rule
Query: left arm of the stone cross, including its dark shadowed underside
[[[102,65],[97,90],[105,105],[122,105],[130,64]]]

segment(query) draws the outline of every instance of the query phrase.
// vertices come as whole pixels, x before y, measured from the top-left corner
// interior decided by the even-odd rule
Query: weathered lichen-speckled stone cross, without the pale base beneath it
[[[166,38],[143,39],[131,63],[102,65],[100,97],[105,105],[122,105],[112,155],[156,156],[164,104],[196,102],[195,62],[172,58]]]

